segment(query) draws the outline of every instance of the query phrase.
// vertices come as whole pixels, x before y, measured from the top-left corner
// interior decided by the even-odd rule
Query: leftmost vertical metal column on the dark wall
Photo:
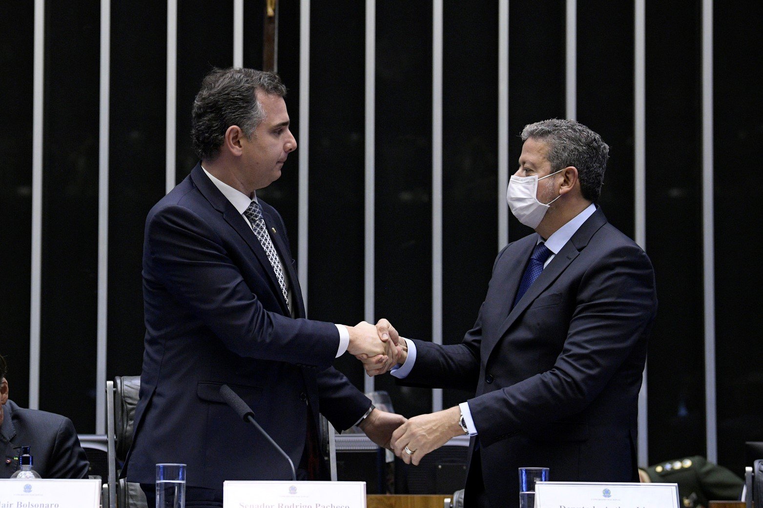
[[[32,253],[29,317],[29,407],[40,407],[40,305],[43,242],[43,80],[45,0],[34,0],[34,104],[32,106]]]

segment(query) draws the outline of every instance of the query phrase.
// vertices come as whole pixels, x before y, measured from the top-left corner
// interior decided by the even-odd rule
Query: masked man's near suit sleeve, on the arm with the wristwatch
[[[604,390],[652,326],[657,301],[649,258],[635,245],[605,253],[584,273],[576,301],[551,370],[468,400],[485,445],[579,413]]]

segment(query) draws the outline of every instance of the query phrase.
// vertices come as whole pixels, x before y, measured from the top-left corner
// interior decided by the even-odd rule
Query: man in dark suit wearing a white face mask
[[[638,481],[652,264],[595,205],[609,153],[597,133],[550,120],[526,126],[522,139],[507,201],[536,233],[498,254],[462,343],[406,339],[393,371],[403,384],[476,392],[411,418],[392,438],[394,452],[417,465],[453,436],[473,436],[465,506],[517,506],[523,466],[549,467],[555,481]]]

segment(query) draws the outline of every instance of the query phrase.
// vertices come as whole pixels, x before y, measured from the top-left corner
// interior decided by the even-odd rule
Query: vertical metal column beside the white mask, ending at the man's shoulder
[[[498,2],[498,249],[509,241],[509,0]]]

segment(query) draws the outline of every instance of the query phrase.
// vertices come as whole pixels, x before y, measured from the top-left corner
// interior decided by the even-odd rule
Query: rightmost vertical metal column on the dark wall
[[[702,249],[705,305],[707,460],[718,461],[713,223],[713,0],[702,2]]]

